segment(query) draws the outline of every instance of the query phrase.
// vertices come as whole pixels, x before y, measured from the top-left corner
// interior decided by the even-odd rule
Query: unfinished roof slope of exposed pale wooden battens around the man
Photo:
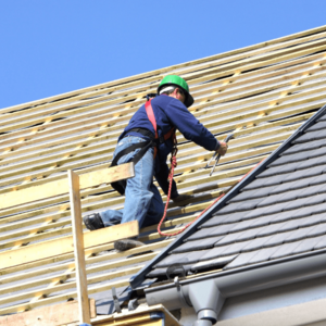
[[[178,134],[179,192],[195,193],[185,208],[171,204],[163,229],[175,231],[287,139],[325,103],[326,26],[260,45],[87,87],[0,110],[0,196],[110,166],[117,136],[155,91],[177,73],[190,85],[190,111],[218,139],[235,134],[212,177],[210,152]],[[17,191],[18,193],[20,191]],[[13,193],[13,195],[12,195]],[[109,184],[84,189],[83,214],[123,208]],[[165,196],[163,196],[165,200]],[[1,209],[1,208],[0,208]],[[0,254],[71,235],[67,196],[0,210]],[[85,230],[87,231],[87,230]],[[140,230],[145,247],[113,252],[111,242],[85,251],[89,296],[128,285],[131,275],[173,238]],[[109,251],[108,251],[109,250]],[[149,253],[149,250],[152,250]],[[134,255],[137,254],[137,255]],[[0,315],[76,298],[73,254],[0,268]],[[1,325],[1,324],[0,324]]]

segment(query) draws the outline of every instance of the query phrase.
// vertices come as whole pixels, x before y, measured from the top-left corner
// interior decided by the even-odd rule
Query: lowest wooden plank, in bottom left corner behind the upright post
[[[89,300],[90,317],[96,318],[95,300]],[[0,326],[60,326],[78,322],[78,302],[68,301],[0,317]]]

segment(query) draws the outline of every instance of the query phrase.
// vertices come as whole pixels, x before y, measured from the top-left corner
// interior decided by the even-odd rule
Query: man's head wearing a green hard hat
[[[189,93],[188,84],[185,79],[176,75],[165,76],[158,87],[158,93],[166,93],[185,103],[187,108],[193,104],[193,98]]]

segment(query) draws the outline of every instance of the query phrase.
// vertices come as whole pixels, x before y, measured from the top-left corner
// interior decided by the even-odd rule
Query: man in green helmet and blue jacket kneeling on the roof
[[[120,193],[125,193],[123,210],[106,210],[84,217],[90,230],[137,220],[139,227],[159,224],[164,212],[161,195],[153,184],[153,176],[165,195],[168,192],[167,155],[174,146],[174,131],[178,129],[186,139],[210,151],[224,155],[227,145],[215,137],[187,110],[193,103],[185,79],[176,75],[165,76],[158,96],[142,105],[131,117],[118,137],[111,166],[134,162],[135,177],[112,184]],[[150,106],[150,108],[149,108]],[[179,195],[175,181],[171,199],[184,205],[191,196]],[[142,246],[135,239],[114,243],[117,250]]]

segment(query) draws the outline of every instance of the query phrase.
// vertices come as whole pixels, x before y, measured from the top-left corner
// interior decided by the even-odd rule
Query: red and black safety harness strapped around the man
[[[150,140],[142,141],[142,142],[139,142],[139,143],[134,143],[134,145],[129,146],[128,148],[122,150],[113,159],[113,161],[111,163],[111,166],[116,166],[118,160],[122,156],[135,151],[136,149],[140,149],[140,151],[130,161],[135,165],[146,154],[146,152],[152,147],[154,148],[154,159],[155,159],[156,153],[158,153],[158,147],[161,143],[164,143],[170,138],[172,138],[172,140],[173,140],[172,158],[176,155],[176,153],[177,153],[177,140],[176,140],[176,136],[175,136],[175,128],[171,128],[164,136],[159,137],[156,120],[155,120],[155,115],[154,115],[154,112],[153,112],[151,101],[152,101],[152,99],[148,98],[148,101],[145,103],[145,109],[146,109],[146,113],[147,113],[147,116],[148,116],[149,121],[153,125],[155,136],[153,137],[153,134],[150,130],[146,129],[146,128],[134,128],[134,129],[128,130],[128,133],[130,133],[130,131],[139,133],[139,134],[150,138]],[[172,160],[172,158],[171,158],[171,160]],[[112,183],[111,186],[117,192],[120,192],[121,195],[124,195],[125,193],[125,188],[126,188],[126,180]]]

